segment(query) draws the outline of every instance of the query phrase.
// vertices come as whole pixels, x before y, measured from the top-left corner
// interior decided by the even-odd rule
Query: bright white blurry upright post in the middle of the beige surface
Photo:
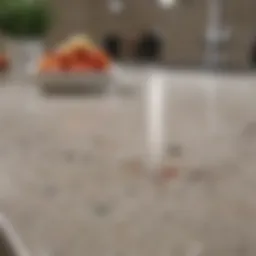
[[[158,169],[165,153],[164,79],[152,74],[146,84],[146,163],[149,170]]]

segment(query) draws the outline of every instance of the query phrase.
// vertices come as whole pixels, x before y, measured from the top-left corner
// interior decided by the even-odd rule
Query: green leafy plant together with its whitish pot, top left
[[[36,71],[42,40],[50,20],[46,0],[7,0],[0,11],[0,29],[8,38],[13,74]]]

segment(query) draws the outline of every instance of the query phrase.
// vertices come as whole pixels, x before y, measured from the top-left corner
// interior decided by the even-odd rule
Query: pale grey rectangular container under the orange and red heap
[[[47,94],[102,94],[112,78],[109,73],[51,73],[38,76],[42,92]]]

